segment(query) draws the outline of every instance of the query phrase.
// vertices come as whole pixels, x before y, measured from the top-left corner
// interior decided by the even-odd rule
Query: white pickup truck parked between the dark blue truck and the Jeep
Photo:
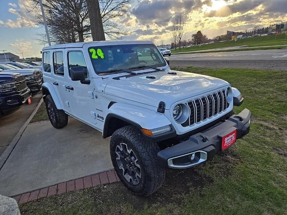
[[[0,72],[17,72],[25,76],[27,86],[32,94],[36,94],[42,90],[43,72],[40,69],[6,69],[4,64],[0,64]],[[7,67],[8,68],[8,67]]]

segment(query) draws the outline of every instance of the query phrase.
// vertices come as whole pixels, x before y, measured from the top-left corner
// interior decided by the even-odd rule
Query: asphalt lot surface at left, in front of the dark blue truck
[[[0,156],[35,110],[41,98],[41,92],[33,95],[31,104],[24,104],[9,115],[0,118]]]

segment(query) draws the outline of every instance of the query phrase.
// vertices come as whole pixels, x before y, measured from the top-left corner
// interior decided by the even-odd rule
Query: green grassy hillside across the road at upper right
[[[276,37],[276,39],[275,39]],[[236,41],[236,46],[244,46],[248,45],[249,47],[255,46],[279,46],[279,45],[287,45],[287,40],[285,40],[285,34],[277,34],[277,35],[267,35],[261,37],[251,37],[246,39],[238,39]],[[206,50],[206,49],[215,49],[215,48],[223,48],[235,46],[234,40],[228,40],[225,42],[215,42],[211,44],[201,45],[199,46],[191,46],[188,48],[182,48],[181,50],[171,50],[172,53],[177,52],[185,52],[185,51],[197,51],[197,50]]]

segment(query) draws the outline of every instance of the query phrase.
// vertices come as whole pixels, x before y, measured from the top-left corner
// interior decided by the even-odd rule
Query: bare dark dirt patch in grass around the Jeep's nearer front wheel
[[[168,170],[166,179],[161,188],[147,197],[136,196],[124,188],[122,183],[108,185],[107,188],[94,188],[95,203],[106,201],[120,204],[122,202],[132,204],[136,209],[142,209],[146,203],[166,204],[182,203],[179,196],[189,192],[190,188],[202,188],[206,184],[212,183],[213,180],[206,175],[200,175],[196,168]]]

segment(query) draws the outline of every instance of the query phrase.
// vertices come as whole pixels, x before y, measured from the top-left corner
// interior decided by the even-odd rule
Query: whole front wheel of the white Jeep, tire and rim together
[[[110,155],[124,186],[137,195],[150,195],[164,182],[165,170],[159,166],[155,142],[148,142],[137,127],[129,125],[114,132]]]

